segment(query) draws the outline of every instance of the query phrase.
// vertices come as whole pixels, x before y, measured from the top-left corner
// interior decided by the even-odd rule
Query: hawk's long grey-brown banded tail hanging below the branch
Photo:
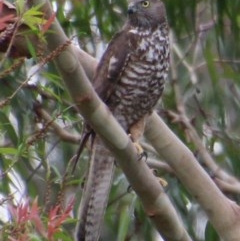
[[[89,175],[79,209],[77,241],[97,241],[114,173],[114,158],[96,137]]]

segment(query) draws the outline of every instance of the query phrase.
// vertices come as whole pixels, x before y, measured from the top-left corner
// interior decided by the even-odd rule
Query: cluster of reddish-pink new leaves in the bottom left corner
[[[73,208],[73,200],[65,210],[56,205],[49,211],[47,217],[40,215],[40,207],[37,199],[30,205],[29,202],[20,203],[16,207],[9,206],[12,222],[6,223],[1,230],[2,240],[25,241],[25,240],[56,240],[67,239],[66,233],[61,229],[68,220]],[[42,221],[44,220],[44,221]]]

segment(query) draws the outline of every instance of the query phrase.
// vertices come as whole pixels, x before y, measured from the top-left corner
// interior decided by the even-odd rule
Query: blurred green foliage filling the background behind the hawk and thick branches
[[[80,46],[94,56],[102,53],[103,46],[120,28],[127,8],[125,0],[52,1],[52,4],[67,35],[79,40]],[[172,64],[158,111],[211,177],[217,179],[217,173],[200,157],[181,115],[188,117],[219,168],[239,176],[240,1],[166,0],[165,4],[171,28]],[[22,21],[36,34],[44,35],[53,19],[43,21],[39,7],[26,10],[23,1],[19,1],[18,6]],[[0,19],[0,30],[11,17]],[[39,24],[43,24],[44,30],[39,30]],[[69,233],[73,232],[74,219],[66,229],[69,233],[65,229],[59,231],[59,227],[73,204],[59,216],[60,206],[56,203],[64,202],[75,193],[77,197],[81,195],[78,186],[87,169],[87,150],[74,175],[70,170],[83,120],[71,104],[54,65],[36,57],[41,51],[38,47],[29,44],[34,58],[25,61],[0,55],[0,195],[2,200],[20,203],[10,207],[11,223],[0,215],[1,232],[11,234],[11,240],[16,240],[12,230],[20,232],[19,228],[22,240],[72,240]],[[66,133],[71,137],[66,138]],[[160,159],[151,150],[147,151],[150,158]],[[176,177],[164,169],[159,172],[168,181],[166,192],[193,239],[218,240],[214,229],[206,225],[206,216]],[[127,186],[118,170],[103,239],[156,240],[154,227],[135,194],[126,191]],[[219,187],[239,201],[239,191]],[[23,203],[26,198],[34,201]],[[6,210],[3,203],[1,206]],[[74,218],[77,205],[78,201],[73,208]],[[39,210],[51,211],[48,216]]]

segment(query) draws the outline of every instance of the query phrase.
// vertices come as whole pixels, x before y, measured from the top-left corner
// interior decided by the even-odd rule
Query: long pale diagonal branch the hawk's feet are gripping
[[[40,0],[33,2],[35,5],[43,3]],[[42,9],[47,18],[52,16],[49,2],[45,2]],[[68,40],[56,20],[50,27],[46,39],[51,52]],[[137,163],[136,149],[129,136],[95,94],[83,67],[79,65],[75,48],[68,46],[56,56],[54,61],[79,112],[112,150],[131,186],[141,199],[146,213],[152,217],[161,235],[166,241],[190,241],[191,238],[157,178],[144,161]]]

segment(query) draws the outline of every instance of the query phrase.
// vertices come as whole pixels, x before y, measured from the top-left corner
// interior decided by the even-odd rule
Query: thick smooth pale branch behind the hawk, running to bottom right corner
[[[176,176],[206,211],[223,240],[239,240],[239,206],[222,194],[190,150],[156,113],[149,118],[145,134],[157,152],[172,167]]]

